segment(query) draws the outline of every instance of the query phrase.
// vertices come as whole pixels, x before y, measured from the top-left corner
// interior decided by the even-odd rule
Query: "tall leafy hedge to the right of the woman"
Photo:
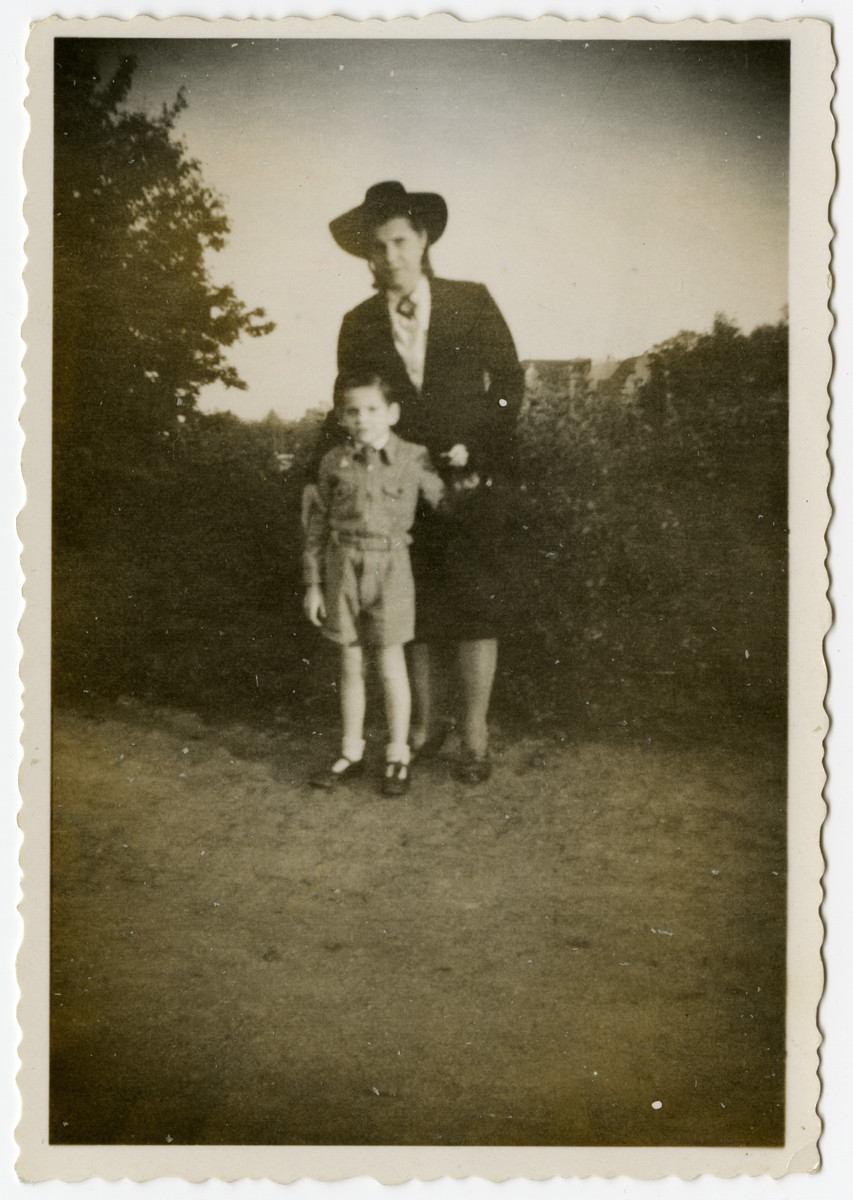
[[[787,328],[720,317],[632,395],[535,372],[519,425],[509,694],[630,721],[785,707]],[[523,535],[523,536],[522,536]],[[506,658],[506,656],[505,656]]]

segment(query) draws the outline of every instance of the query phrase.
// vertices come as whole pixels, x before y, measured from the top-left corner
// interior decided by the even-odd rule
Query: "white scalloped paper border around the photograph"
[[[788,926],[788,1068],[786,1078],[786,1145],[780,1148],[715,1147],[382,1147],[382,1146],[49,1146],[47,1144],[47,931],[49,871],[44,853],[48,834],[50,724],[46,680],[49,661],[49,421],[37,402],[50,394],[49,365],[49,191],[42,187],[49,161],[50,96],[40,88],[49,79],[49,46],[54,35],[121,37],[228,37],[238,31],[253,37],[412,37],[435,38],[792,38],[792,448],[791,462],[791,666],[788,714],[789,797],[789,926]],[[26,611],[20,623],[24,643],[22,678],[25,685],[23,766],[19,774],[24,805],[20,864],[24,899],[20,912],[25,935],[18,978],[22,1027],[18,1084],[23,1117],[16,1132],[20,1147],[17,1171],[22,1180],[76,1182],[145,1181],[179,1177],[236,1181],[268,1178],[286,1183],[299,1178],[368,1177],[382,1183],[408,1180],[480,1177],[494,1182],[553,1177],[659,1180],[675,1176],[733,1178],[815,1171],[821,1122],[817,1010],[823,991],[821,946],[824,860],[821,828],[827,732],[824,696],[827,672],[823,638],[831,613],[827,599],[825,534],[828,498],[828,412],[833,368],[830,336],[831,274],[829,204],[835,186],[831,113],[835,58],[831,28],[813,19],[751,19],[749,22],[689,19],[654,22],[636,17],[567,20],[563,17],[494,18],[468,22],[449,14],[424,18],[354,20],[346,17],[284,19],[208,19],[203,17],[48,18],[32,26],[28,43],[30,95],[26,109],[31,133],[25,151],[28,196],[29,313],[24,323],[26,404],[22,426],[28,485],[19,532],[24,542]],[[34,82],[36,83],[34,90]],[[48,84],[49,88],[49,84]],[[819,149],[816,158],[815,148]],[[38,166],[41,164],[41,167]],[[38,175],[38,187],[32,180]]]

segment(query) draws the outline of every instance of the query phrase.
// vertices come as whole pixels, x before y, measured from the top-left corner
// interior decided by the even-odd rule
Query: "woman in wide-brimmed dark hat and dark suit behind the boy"
[[[412,748],[433,740],[437,652],[453,643],[463,703],[457,774],[480,782],[491,773],[486,722],[509,565],[499,554],[499,496],[515,468],[523,373],[487,289],[434,277],[428,251],[446,221],[440,196],[384,182],[330,223],[338,246],[366,259],[377,289],[343,318],[338,371],[370,368],[391,385],[397,432],[426,445],[447,482],[449,511],[424,514],[414,535]]]

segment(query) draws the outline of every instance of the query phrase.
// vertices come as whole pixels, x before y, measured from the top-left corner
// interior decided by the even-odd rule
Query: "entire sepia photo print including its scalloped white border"
[[[828,38],[629,25],[37,30],[29,1177],[813,1164]]]

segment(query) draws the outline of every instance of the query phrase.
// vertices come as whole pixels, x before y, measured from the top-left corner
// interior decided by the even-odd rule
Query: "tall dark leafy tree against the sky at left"
[[[55,46],[54,464],[67,504],[110,464],[156,456],[205,385],[245,388],[224,350],[274,325],[209,275],[229,226],[174,133],[182,91],[160,116],[131,112],[131,56],[104,80],[110,43]]]

